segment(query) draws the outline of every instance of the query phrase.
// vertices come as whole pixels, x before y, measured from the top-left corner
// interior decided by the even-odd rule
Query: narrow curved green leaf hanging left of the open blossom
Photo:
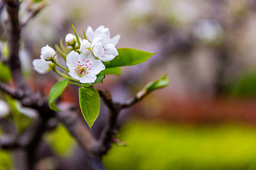
[[[56,106],[54,100],[61,95],[62,91],[66,88],[67,85],[68,85],[68,79],[62,79],[52,87],[52,89],[50,90],[49,99],[48,99],[50,109],[54,111],[60,111]]]

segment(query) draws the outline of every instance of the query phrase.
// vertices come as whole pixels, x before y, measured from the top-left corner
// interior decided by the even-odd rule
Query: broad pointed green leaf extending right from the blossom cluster
[[[133,66],[147,61],[154,54],[136,49],[121,48],[118,49],[118,56],[111,61],[103,62],[103,64],[106,68]]]

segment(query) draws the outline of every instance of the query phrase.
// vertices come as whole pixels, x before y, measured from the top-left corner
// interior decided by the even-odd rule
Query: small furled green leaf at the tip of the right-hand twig
[[[144,89],[150,93],[153,90],[156,90],[158,88],[163,88],[169,85],[170,79],[167,77],[167,75],[161,76],[160,79],[154,82],[150,82],[147,85],[145,85]]]

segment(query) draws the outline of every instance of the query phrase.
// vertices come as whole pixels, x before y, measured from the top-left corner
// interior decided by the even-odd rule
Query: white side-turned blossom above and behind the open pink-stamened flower
[[[120,39],[120,35],[116,35],[113,38],[110,38],[110,32],[108,28],[101,25],[95,31],[93,31],[92,27],[88,27],[86,30],[86,37],[88,42],[91,42],[91,50],[94,55],[102,60],[102,61],[110,61],[118,55],[118,51],[116,49],[116,45]],[[86,45],[86,47],[84,47]],[[88,49],[88,43],[81,44],[80,49]],[[84,51],[81,51],[84,52]]]

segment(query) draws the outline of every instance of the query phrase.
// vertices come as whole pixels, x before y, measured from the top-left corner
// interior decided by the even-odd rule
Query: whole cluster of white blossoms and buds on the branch
[[[105,69],[101,61],[113,60],[118,55],[116,45],[119,39],[119,34],[110,38],[109,29],[103,25],[95,31],[89,26],[84,39],[79,37],[80,47],[74,34],[67,34],[65,37],[65,43],[70,48],[70,52],[64,58],[68,69],[57,63],[57,52],[48,45],[41,49],[40,59],[33,61],[33,67],[40,74],[44,74],[50,70],[56,71],[57,65],[80,83],[94,83],[97,79],[96,75]]]

